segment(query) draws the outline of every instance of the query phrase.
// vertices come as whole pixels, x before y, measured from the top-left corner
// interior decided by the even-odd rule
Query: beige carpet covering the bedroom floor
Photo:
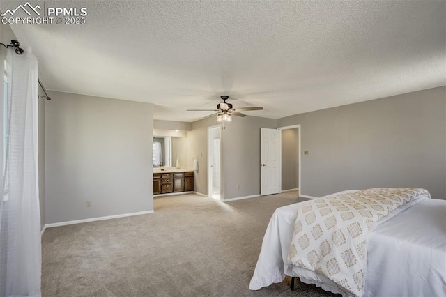
[[[273,211],[302,200],[159,197],[153,214],[49,228],[43,296],[333,296],[289,280],[248,289]]]

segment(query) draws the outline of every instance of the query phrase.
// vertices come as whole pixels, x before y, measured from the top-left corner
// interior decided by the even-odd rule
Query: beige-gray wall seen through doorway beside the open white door
[[[282,190],[299,188],[299,129],[282,130]]]

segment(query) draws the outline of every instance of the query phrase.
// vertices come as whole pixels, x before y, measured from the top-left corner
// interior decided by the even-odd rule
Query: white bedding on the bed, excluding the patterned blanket
[[[249,289],[288,275],[351,296],[321,273],[287,261],[296,210],[305,203],[277,208],[272,215]],[[417,199],[385,216],[368,235],[365,275],[364,296],[446,296],[446,201]]]

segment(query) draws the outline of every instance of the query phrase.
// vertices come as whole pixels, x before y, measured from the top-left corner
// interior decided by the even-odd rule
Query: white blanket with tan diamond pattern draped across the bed
[[[373,188],[309,201],[298,208],[288,261],[333,280],[346,295],[364,294],[367,235],[424,189]]]

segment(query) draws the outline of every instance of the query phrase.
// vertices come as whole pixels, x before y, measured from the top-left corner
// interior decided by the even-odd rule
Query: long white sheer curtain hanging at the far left
[[[37,60],[29,51],[18,55],[11,48],[6,56],[9,129],[0,188],[0,296],[40,296]]]

